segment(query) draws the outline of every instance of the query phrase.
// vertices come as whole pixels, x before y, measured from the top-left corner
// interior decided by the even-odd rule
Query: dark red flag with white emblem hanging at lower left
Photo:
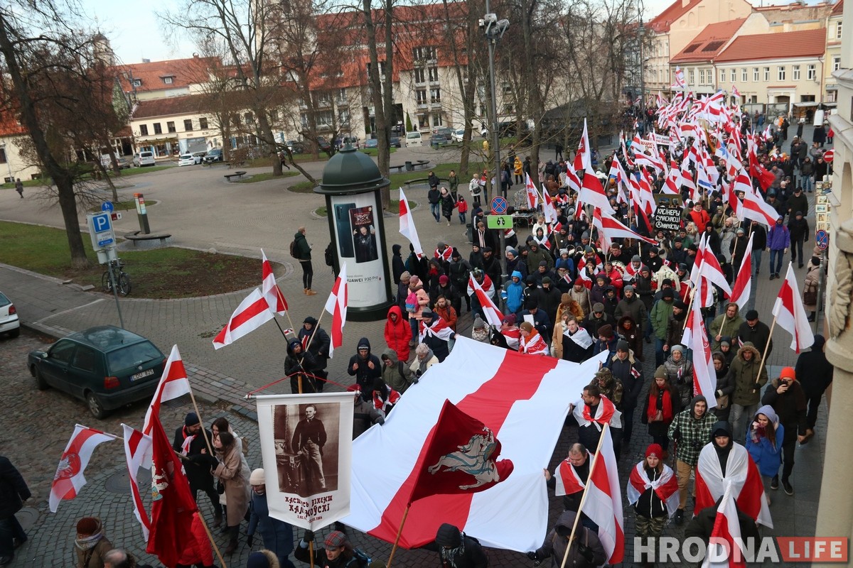
[[[193,542],[195,501],[181,460],[165,437],[160,416],[151,420],[151,444],[151,531],[145,551],[164,565],[174,566],[186,543]]]

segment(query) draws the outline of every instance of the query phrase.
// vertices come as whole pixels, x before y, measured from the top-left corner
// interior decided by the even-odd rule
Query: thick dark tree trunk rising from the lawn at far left
[[[9,21],[3,18],[3,13],[0,12],[0,53],[3,53],[3,59],[6,60],[6,71],[9,73],[9,79],[12,81],[15,95],[20,103],[20,122],[30,133],[38,159],[41,160],[47,174],[53,178],[56,184],[62,219],[65,221],[68,248],[71,250],[72,265],[75,268],[88,267],[89,259],[86,258],[83,236],[80,234],[80,223],[77,217],[77,198],[74,195],[73,177],[50,152],[44,129],[38,123],[36,104],[30,97],[29,90],[26,87],[26,79],[18,65],[15,46],[9,39],[8,26]]]

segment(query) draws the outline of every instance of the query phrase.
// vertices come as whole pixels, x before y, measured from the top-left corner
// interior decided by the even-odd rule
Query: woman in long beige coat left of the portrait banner
[[[228,505],[227,524],[229,533],[228,548],[225,554],[233,554],[237,549],[237,535],[240,522],[249,510],[249,464],[238,447],[235,437],[229,432],[219,432],[213,439],[219,465],[213,471],[225,487],[225,502]]]

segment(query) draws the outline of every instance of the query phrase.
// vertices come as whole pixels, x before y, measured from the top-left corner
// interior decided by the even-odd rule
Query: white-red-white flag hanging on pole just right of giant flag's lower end
[[[580,513],[580,512],[578,512]],[[622,518],[622,485],[610,425],[601,431],[601,450],[595,456],[587,479],[583,513],[598,525],[598,539],[609,564],[622,562],[625,553],[625,530]]]

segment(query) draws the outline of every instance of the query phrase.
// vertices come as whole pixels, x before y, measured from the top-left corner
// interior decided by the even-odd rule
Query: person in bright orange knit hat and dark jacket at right
[[[802,444],[806,438],[808,422],[806,422],[807,403],[803,387],[797,380],[793,367],[783,367],[779,378],[770,382],[764,391],[761,404],[769,404],[779,416],[780,424],[785,427],[785,437],[782,439],[782,487],[788,495],[793,495],[791,473],[794,468],[794,450],[797,442]],[[770,489],[779,488],[779,478],[774,476]]]

